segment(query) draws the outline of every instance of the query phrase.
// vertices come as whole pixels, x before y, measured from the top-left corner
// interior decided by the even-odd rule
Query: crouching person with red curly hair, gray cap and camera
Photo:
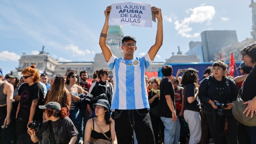
[[[44,140],[44,143],[75,144],[78,132],[70,118],[67,117],[67,109],[61,108],[58,102],[49,102],[44,106],[43,116],[45,121],[41,124],[33,121],[28,124],[28,134],[31,140],[36,143]]]

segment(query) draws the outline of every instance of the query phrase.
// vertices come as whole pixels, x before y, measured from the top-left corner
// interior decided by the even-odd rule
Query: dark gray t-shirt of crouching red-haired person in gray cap
[[[60,127],[59,123],[60,119],[52,122],[52,131],[54,133],[56,144],[68,144],[69,140],[72,137],[78,135],[76,127],[74,126],[73,122],[70,120],[69,117],[65,117],[62,119]],[[44,139],[44,144],[50,144],[49,133],[50,129],[48,121],[44,121],[41,128],[36,131],[36,136],[38,140]]]

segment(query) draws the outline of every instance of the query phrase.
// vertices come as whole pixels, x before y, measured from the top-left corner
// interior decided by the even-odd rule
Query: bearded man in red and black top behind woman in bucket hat
[[[80,83],[79,85],[84,89],[84,94],[87,95],[92,83],[87,81],[88,78],[88,72],[86,70],[83,70],[80,72]],[[82,98],[82,97],[81,97]],[[84,141],[84,128],[85,128],[85,124],[87,122],[88,119],[90,119],[90,115],[88,113],[87,107],[86,107],[86,102],[85,102],[85,98],[81,99],[81,105],[80,105],[80,113],[79,113],[79,122],[80,122],[80,126],[81,129],[78,130],[79,131],[79,137],[80,137],[80,141]]]

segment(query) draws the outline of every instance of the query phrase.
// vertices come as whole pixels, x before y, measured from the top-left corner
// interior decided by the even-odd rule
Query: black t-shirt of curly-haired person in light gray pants
[[[184,110],[192,110],[200,112],[200,100],[196,97],[196,100],[192,103],[188,102],[188,97],[194,97],[196,93],[195,84],[187,84],[184,86]]]

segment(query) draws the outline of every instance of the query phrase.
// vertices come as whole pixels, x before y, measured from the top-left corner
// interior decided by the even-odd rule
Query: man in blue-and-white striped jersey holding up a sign
[[[137,50],[136,39],[125,36],[121,46],[124,58],[117,58],[107,45],[108,17],[111,6],[104,11],[105,23],[100,34],[100,48],[113,72],[114,89],[111,110],[115,111],[115,130],[117,143],[132,144],[133,130],[138,143],[154,144],[154,134],[148,113],[148,95],[145,83],[145,70],[154,60],[156,53],[163,44],[163,18],[161,9],[155,6],[151,11],[157,18],[156,42],[148,53],[142,57],[135,57]]]

